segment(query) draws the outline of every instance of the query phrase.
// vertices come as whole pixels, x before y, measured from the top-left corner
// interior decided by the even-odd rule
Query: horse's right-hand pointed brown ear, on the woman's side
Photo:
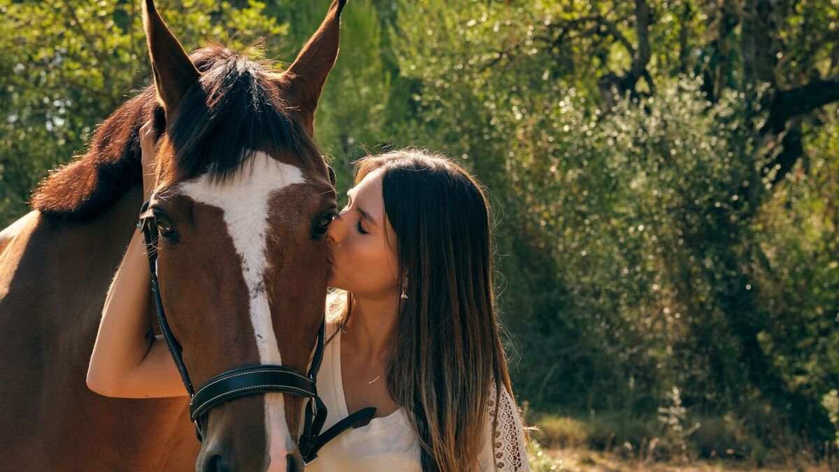
[[[315,109],[320,92],[338,57],[338,32],[345,4],[347,0],[333,0],[320,28],[280,76],[279,84],[285,90],[286,102],[310,134],[315,134]]]

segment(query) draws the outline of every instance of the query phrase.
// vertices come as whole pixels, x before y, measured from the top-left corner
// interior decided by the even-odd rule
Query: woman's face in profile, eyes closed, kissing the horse
[[[381,170],[367,174],[347,196],[350,202],[327,231],[328,285],[363,298],[395,296],[399,286],[396,236],[384,214]]]

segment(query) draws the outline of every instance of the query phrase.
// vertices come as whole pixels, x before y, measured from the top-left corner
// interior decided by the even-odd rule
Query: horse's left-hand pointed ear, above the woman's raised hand
[[[167,113],[174,110],[186,91],[201,76],[175,35],[160,18],[153,0],[143,1],[143,26],[154,71],[154,85]]]

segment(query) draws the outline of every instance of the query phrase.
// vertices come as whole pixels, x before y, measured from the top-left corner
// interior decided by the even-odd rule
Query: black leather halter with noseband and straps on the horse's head
[[[330,169],[331,170],[331,169]],[[140,207],[140,214],[143,215],[149,209],[151,199],[143,202]],[[195,435],[199,441],[203,441],[203,431],[206,423],[201,420],[212,407],[226,401],[231,401],[241,396],[261,395],[263,393],[275,392],[308,398],[305,417],[303,419],[303,434],[300,435],[298,448],[305,464],[309,464],[317,458],[317,452],[338,434],[348,428],[366,422],[376,413],[373,407],[362,408],[352,413],[349,417],[342,419],[325,432],[320,433],[323,423],[326,421],[326,406],[320,401],[317,394],[316,379],[320,363],[323,360],[324,334],[326,332],[326,317],[320,323],[320,330],[315,345],[315,355],[312,359],[309,371],[304,375],[297,370],[284,365],[258,364],[227,370],[210,380],[204,382],[198,391],[192,387],[190,375],[186,372],[186,364],[181,356],[182,348],[175,340],[175,336],[169,329],[166,315],[163,309],[163,301],[160,298],[160,287],[157,277],[157,240],[158,231],[154,224],[154,216],[149,215],[140,218],[138,223],[143,229],[143,239],[146,244],[146,254],[149,256],[149,272],[152,278],[152,293],[154,293],[154,307],[157,312],[157,319],[160,331],[169,348],[169,354],[175,361],[175,366],[180,373],[186,391],[190,394],[190,419],[195,423]]]

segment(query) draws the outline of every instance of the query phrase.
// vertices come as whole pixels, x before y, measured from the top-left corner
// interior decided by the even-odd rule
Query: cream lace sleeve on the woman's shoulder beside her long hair
[[[519,418],[519,407],[506,388],[498,395],[495,384],[489,394],[487,404],[487,436],[484,440],[482,470],[499,470],[515,472],[530,470],[527,450],[524,445],[524,426]]]

